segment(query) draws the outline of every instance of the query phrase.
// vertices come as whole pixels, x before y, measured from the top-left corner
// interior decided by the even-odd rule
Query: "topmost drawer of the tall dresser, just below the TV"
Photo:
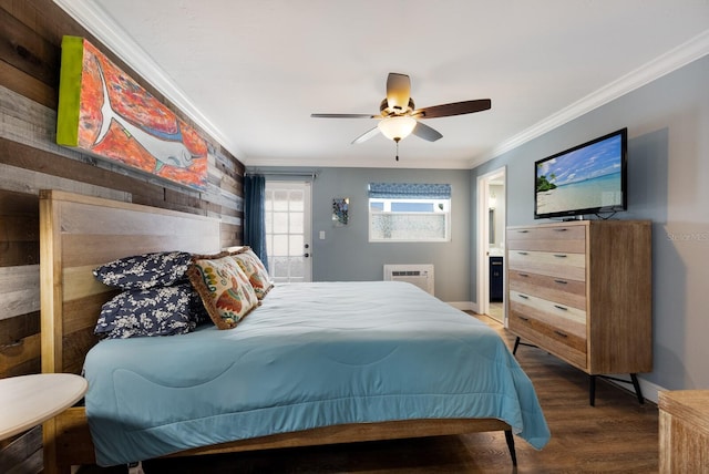
[[[542,250],[584,254],[586,226],[534,226],[507,228],[507,248],[514,250]]]

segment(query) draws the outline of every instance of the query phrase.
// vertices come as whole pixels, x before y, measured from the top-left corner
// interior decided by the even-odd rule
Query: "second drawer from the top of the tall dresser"
[[[586,254],[508,249],[507,267],[510,271],[586,281]]]

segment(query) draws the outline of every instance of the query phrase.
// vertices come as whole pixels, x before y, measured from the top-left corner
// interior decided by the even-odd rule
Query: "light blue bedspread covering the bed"
[[[496,418],[549,439],[499,334],[404,282],[280,285],[236,329],[105,340],[84,373],[102,466],[388,420]]]

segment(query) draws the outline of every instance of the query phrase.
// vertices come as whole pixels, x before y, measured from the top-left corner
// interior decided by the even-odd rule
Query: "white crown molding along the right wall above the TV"
[[[474,168],[707,54],[709,30],[505,140],[491,153],[473,158],[469,165]]]

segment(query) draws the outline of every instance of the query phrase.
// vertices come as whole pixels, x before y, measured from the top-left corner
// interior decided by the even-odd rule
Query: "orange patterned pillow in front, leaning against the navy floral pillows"
[[[187,276],[216,327],[236,328],[259,301],[248,278],[234,258],[228,254],[214,257],[193,257]]]

